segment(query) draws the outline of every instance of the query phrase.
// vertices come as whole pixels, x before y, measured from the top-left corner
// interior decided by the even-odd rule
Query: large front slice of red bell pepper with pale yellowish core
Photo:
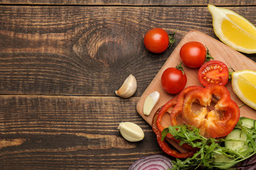
[[[217,98],[215,102],[214,97]],[[194,108],[193,104],[196,101],[200,102],[200,108]],[[187,125],[199,128],[204,137],[224,137],[238,123],[240,110],[238,104],[230,98],[225,86],[210,84],[204,89],[193,90],[186,95],[182,118]]]

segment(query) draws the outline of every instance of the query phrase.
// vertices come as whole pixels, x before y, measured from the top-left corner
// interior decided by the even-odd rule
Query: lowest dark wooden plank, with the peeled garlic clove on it
[[[128,169],[162,153],[135,110],[138,99],[0,96],[0,169]],[[144,140],[124,140],[123,121],[137,123]]]

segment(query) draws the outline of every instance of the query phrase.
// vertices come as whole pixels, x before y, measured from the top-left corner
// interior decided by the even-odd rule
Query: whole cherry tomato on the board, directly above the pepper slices
[[[187,77],[181,70],[170,67],[161,76],[161,85],[169,94],[178,94],[186,86]]]

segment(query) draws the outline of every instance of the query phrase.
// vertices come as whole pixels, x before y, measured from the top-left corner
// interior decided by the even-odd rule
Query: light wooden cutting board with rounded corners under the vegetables
[[[210,52],[210,55],[214,57],[215,60],[219,60],[221,62],[224,62],[228,68],[233,68],[235,71],[241,70],[241,69],[252,69],[256,71],[256,63],[250,60],[249,58],[242,55],[240,52],[237,52],[233,50],[232,48],[228,47],[227,45],[223,44],[222,42],[215,40],[214,38],[211,38],[210,36],[201,33],[196,30],[191,30],[188,32],[181,42],[178,43],[177,47],[174,49],[174,52],[170,55],[170,57],[166,60],[163,67],[159,70],[159,72],[156,74],[156,77],[151,81],[149,86],[146,88],[144,93],[142,94],[141,98],[139,98],[139,101],[137,103],[137,112],[139,115],[146,120],[149,125],[151,125],[151,120],[156,113],[156,110],[163,106],[167,101],[169,101],[171,98],[174,98],[174,95],[167,94],[164,89],[161,87],[161,74],[164,72],[165,69],[169,67],[176,67],[177,64],[181,63],[181,59],[179,57],[179,51],[186,42],[189,41],[198,41],[201,42],[203,45],[206,45],[208,47],[208,50]],[[200,82],[198,81],[197,72],[198,69],[191,69],[183,65],[184,72],[186,72],[187,76],[187,84],[186,86],[191,85],[198,85],[201,86]],[[230,96],[238,103],[238,106],[241,106],[243,103],[240,101],[240,99],[234,94],[231,82],[228,82],[226,85],[228,90],[230,91]],[[144,115],[143,114],[143,104],[146,96],[151,94],[153,91],[159,91],[160,94],[160,100],[159,103],[154,107],[153,111],[151,111],[150,115]],[[256,96],[255,96],[256,97]],[[240,113],[241,116],[245,116],[247,118],[253,118],[256,119],[256,111],[249,106],[242,106],[240,107]],[[170,125],[169,118],[163,118],[163,125]]]

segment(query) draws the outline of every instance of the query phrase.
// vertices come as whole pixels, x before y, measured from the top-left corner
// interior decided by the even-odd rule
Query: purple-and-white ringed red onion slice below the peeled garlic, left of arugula
[[[138,159],[128,170],[166,170],[171,168],[171,159],[161,154],[153,154]]]

